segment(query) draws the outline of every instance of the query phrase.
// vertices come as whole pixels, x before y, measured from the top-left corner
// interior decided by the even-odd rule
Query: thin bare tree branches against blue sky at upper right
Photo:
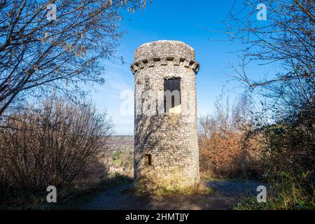
[[[232,68],[237,80],[262,93],[272,106],[282,104],[300,110],[314,105],[315,2],[313,0],[264,1],[267,20],[256,15],[261,1],[235,1],[225,20],[231,41],[244,44],[240,63]],[[257,8],[258,7],[258,8]],[[241,8],[238,10],[238,8]],[[269,64],[279,70],[273,78],[250,78],[252,62]]]

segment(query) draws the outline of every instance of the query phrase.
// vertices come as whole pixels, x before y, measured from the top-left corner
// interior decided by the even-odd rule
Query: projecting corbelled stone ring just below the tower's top
[[[153,57],[149,59],[141,59],[138,62],[134,62],[130,66],[130,68],[132,70],[132,73],[136,73],[140,69],[167,65],[184,66],[186,68],[193,69],[193,71],[195,71],[196,74],[200,69],[200,64],[198,62],[183,57]]]

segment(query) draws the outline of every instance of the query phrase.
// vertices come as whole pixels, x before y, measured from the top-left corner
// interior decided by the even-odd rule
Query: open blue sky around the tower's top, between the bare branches
[[[237,57],[230,52],[240,48],[240,45],[225,41],[228,36],[222,32],[225,29],[221,21],[228,14],[232,1],[153,0],[141,13],[126,11],[122,25],[127,33],[120,40],[116,56],[123,56],[125,62],[132,63],[134,50],[143,43],[157,40],[188,43],[195,48],[196,60],[201,65],[197,74],[197,113],[198,116],[211,113],[223,87],[232,90],[239,86],[225,74],[230,72],[229,62],[237,64]],[[126,99],[121,99],[120,94],[134,91],[134,76],[130,64],[117,62],[104,62],[106,83],[94,85],[90,98],[98,109],[107,109],[116,125],[116,134],[133,134],[133,99],[127,99],[132,104],[131,113],[121,113],[120,106]],[[262,73],[262,70],[253,69],[252,72]],[[237,92],[240,90],[231,91],[231,97]]]

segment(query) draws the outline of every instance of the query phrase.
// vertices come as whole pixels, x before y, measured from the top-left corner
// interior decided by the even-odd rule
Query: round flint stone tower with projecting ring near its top
[[[134,177],[141,189],[169,190],[200,181],[195,50],[155,41],[134,52]]]

